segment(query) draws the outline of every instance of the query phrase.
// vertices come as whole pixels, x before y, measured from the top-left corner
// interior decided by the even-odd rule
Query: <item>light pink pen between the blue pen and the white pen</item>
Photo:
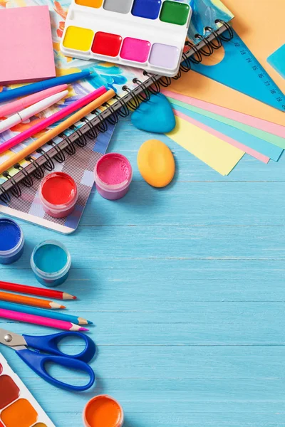
[[[7,104],[2,105],[0,107],[0,117],[6,117],[11,114],[14,114],[14,112],[19,112],[21,110],[24,110],[24,108],[29,107],[30,105],[36,104],[36,102],[39,102],[41,100],[45,100],[47,97],[51,95],[55,95],[56,93],[62,92],[67,88],[68,88],[68,85],[55,86],[54,88],[41,90],[41,92],[23,97],[21,98],[21,100],[8,102]]]

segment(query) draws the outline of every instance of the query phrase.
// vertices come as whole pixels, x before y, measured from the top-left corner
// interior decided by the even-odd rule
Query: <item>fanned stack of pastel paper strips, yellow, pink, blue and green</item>
[[[285,149],[281,125],[170,90],[163,93],[177,119],[168,136],[220,174],[229,174],[244,153],[268,163],[278,162]]]

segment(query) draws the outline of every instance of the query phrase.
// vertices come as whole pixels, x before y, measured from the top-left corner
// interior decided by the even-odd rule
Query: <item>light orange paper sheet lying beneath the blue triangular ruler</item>
[[[223,0],[223,2],[235,15],[232,21],[234,29],[285,93],[285,80],[266,60],[285,43],[285,0]],[[182,75],[179,80],[173,80],[170,90],[285,125],[284,112],[194,72]]]

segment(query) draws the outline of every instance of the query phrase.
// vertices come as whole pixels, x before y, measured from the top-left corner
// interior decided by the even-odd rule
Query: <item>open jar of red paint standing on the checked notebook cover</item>
[[[76,181],[63,172],[53,172],[41,181],[41,204],[49,216],[64,218],[72,213],[78,199]]]

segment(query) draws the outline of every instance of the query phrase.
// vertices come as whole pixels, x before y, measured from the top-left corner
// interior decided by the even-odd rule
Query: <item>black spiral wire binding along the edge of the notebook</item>
[[[137,85],[137,88],[139,88],[140,91],[138,91],[137,88],[131,90],[128,86],[123,86],[123,90],[128,95],[125,97],[115,95],[115,102],[112,105],[110,105],[109,102],[105,102],[105,110],[95,110],[92,112],[92,114],[95,115],[95,124],[93,124],[93,120],[87,117],[81,119],[81,122],[84,122],[87,127],[85,132],[83,132],[78,126],[73,125],[70,129],[73,130],[73,134],[76,134],[76,138],[72,139],[72,135],[67,136],[65,133],[62,133],[59,136],[62,138],[64,146],[61,146],[61,143],[56,144],[51,140],[48,144],[52,149],[54,149],[53,158],[51,158],[47,152],[43,151],[43,149],[38,149],[37,152],[41,154],[43,158],[41,164],[38,164],[38,160],[33,159],[31,156],[26,157],[26,161],[28,161],[32,167],[31,172],[27,172],[20,164],[15,164],[15,169],[18,169],[19,173],[22,174],[21,184],[24,184],[26,187],[33,186],[33,177],[41,180],[44,176],[44,169],[48,172],[51,172],[54,169],[55,164],[53,159],[58,163],[63,163],[66,159],[66,154],[70,156],[76,154],[76,146],[86,146],[86,137],[95,139],[98,137],[99,132],[106,132],[108,130],[107,123],[115,125],[118,123],[120,117],[127,117],[131,111],[137,110],[141,102],[149,101],[151,95],[157,95],[157,93],[160,93],[162,88],[167,88],[172,83],[172,79],[178,80],[183,73],[188,73],[192,68],[192,63],[201,63],[203,56],[211,56],[214,51],[222,47],[222,42],[231,41],[234,37],[234,33],[229,23],[220,19],[217,19],[215,23],[223,26],[225,31],[219,33],[218,29],[207,26],[204,28],[204,31],[205,33],[208,33],[209,36],[196,34],[195,38],[199,40],[197,45],[190,41],[186,41],[185,48],[187,48],[187,50],[182,54],[180,69],[175,77],[170,78],[160,75],[152,75],[147,73],[147,71],[143,71],[143,75],[147,76],[148,80],[145,82],[140,81],[138,78],[133,80],[133,83]],[[202,47],[199,46],[200,44]],[[191,54],[187,54],[190,51]],[[128,99],[125,100],[125,98]],[[105,115],[105,111],[108,111],[108,115]],[[11,192],[14,197],[18,198],[21,196],[21,188],[19,186],[19,182],[16,181],[16,176],[11,176],[9,172],[4,172],[3,176],[9,179],[9,189],[4,189],[4,184],[6,183],[0,185],[0,200],[5,204],[9,204],[9,201],[11,201],[9,192]]]

